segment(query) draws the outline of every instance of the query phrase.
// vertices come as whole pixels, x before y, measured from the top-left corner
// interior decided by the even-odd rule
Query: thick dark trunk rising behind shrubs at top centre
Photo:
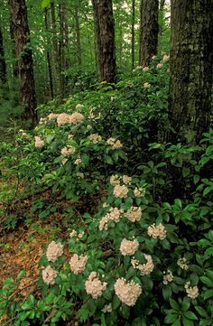
[[[97,57],[102,81],[116,78],[115,26],[112,0],[93,0],[96,19]]]

